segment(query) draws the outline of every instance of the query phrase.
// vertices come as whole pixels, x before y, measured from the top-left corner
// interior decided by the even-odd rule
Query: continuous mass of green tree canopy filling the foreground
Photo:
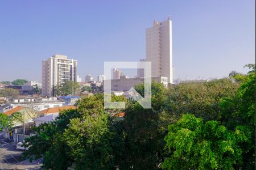
[[[112,101],[125,109],[104,109],[102,94],[81,99],[35,128],[24,156],[43,157],[45,169],[255,169],[255,71],[237,76],[153,82],[151,109],[124,96]],[[143,84],[135,89],[143,96]]]

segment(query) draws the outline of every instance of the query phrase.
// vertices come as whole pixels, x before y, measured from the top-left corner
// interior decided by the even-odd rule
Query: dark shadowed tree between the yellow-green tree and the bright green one
[[[160,83],[152,83],[152,109],[143,109],[137,101],[130,100],[123,121],[125,133],[125,162],[122,168],[157,169],[162,162],[164,135],[160,125],[166,96],[166,88]],[[135,89],[144,96],[144,86]],[[122,169],[121,168],[121,169]]]

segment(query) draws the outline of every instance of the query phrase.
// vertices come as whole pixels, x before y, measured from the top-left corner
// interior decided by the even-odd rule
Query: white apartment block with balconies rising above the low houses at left
[[[55,96],[54,88],[63,86],[67,80],[77,82],[77,60],[67,56],[53,55],[42,61],[42,96]]]

